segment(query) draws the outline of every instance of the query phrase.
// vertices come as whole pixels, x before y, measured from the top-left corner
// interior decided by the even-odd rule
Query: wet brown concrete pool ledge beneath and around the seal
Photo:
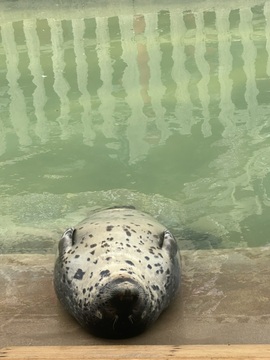
[[[0,346],[270,343],[269,248],[183,251],[182,293],[147,332],[94,338],[59,305],[54,255],[0,255]]]

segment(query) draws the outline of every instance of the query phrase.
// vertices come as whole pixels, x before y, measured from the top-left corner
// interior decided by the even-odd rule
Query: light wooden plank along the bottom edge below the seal
[[[0,348],[0,358],[5,360],[269,360],[270,345],[18,346]]]

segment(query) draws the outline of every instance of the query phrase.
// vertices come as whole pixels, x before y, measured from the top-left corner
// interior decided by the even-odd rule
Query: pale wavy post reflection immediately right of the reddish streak
[[[165,108],[162,106],[162,98],[165,94],[165,86],[161,78],[161,51],[158,37],[158,14],[150,13],[144,15],[147,53],[149,56],[148,66],[150,69],[148,95],[155,113],[155,122],[160,132],[159,144],[162,144],[170,136],[168,123],[165,121]]]

